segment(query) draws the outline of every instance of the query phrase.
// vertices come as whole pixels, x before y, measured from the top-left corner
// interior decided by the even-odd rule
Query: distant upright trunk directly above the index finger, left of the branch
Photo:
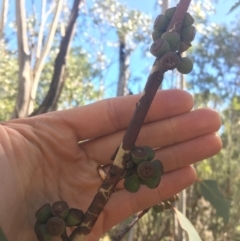
[[[128,94],[130,51],[126,47],[126,36],[119,34],[119,78],[117,96]]]

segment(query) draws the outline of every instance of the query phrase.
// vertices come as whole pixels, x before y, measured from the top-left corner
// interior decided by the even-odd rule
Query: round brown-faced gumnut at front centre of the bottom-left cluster
[[[52,236],[59,236],[65,231],[66,224],[60,217],[52,217],[47,221],[47,232]]]

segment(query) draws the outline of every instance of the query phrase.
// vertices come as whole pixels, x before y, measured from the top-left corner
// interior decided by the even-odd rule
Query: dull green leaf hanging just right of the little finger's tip
[[[222,217],[224,222],[227,223],[229,220],[230,201],[225,199],[219,191],[217,182],[215,180],[201,181],[200,191],[203,197],[216,209],[217,215]]]

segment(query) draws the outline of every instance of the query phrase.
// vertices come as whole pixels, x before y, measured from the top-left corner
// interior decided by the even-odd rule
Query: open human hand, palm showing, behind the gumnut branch
[[[64,200],[86,211],[102,183],[97,168],[111,164],[139,98],[108,99],[1,123],[0,227],[9,241],[37,240],[35,212],[44,203]],[[161,183],[133,194],[120,182],[87,241],[191,185],[196,173],[189,165],[219,152],[219,115],[192,107],[187,92],[156,94],[136,145],[158,148],[155,158],[165,170]]]

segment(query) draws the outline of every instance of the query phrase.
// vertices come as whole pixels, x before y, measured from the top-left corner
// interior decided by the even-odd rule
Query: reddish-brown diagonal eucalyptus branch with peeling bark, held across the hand
[[[167,31],[180,32],[190,2],[191,0],[181,0],[179,2],[174,16],[168,25]],[[168,56],[164,56],[156,58],[143,95],[136,105],[134,115],[115,155],[113,164],[110,166],[107,177],[98,189],[97,194],[85,213],[83,221],[71,234],[70,241],[83,241],[86,239],[86,236],[91,232],[98,216],[115,190],[115,186],[122,179],[125,173],[125,165],[130,158],[130,151],[135,145],[147,112],[160,84],[162,83],[163,75],[166,71],[174,69],[178,64],[176,63],[176,59],[174,59],[173,53],[170,52]]]

